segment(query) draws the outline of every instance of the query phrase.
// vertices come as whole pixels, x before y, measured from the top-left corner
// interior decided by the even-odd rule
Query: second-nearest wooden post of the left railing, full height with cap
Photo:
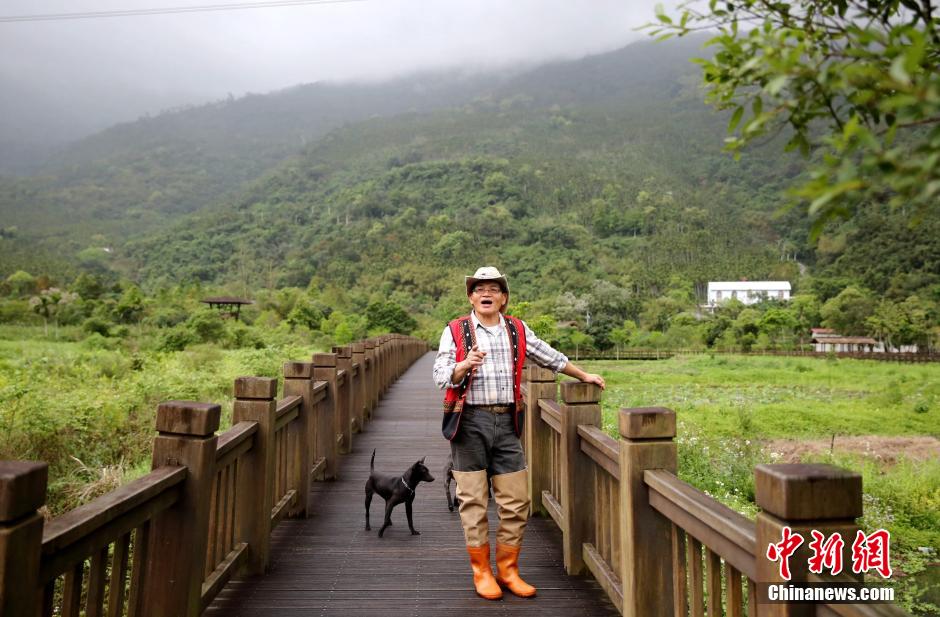
[[[198,617],[221,408],[169,401],[157,407],[153,468],[184,466],[180,500],[152,522],[143,589],[148,617]]]

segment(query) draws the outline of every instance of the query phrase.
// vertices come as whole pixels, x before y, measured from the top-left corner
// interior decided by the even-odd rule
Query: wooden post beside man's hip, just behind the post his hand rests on
[[[525,401],[526,465],[529,467],[529,499],[532,512],[547,516],[542,491],[552,487],[552,428],[542,420],[539,399],[558,398],[555,374],[536,364],[528,367],[529,388]]]

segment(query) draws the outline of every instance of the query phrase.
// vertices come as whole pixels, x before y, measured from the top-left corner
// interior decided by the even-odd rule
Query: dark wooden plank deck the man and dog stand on
[[[591,578],[567,576],[561,535],[551,520],[529,521],[520,570],[538,588],[530,599],[506,594],[500,601],[473,591],[470,565],[456,512],[444,499],[442,469],[449,446],[440,433],[441,393],[431,382],[434,354],[419,359],[379,405],[353,452],[340,462],[340,478],[313,484],[314,509],[306,520],[285,520],[272,537],[267,576],[233,581],[206,615],[618,615]],[[372,449],[376,468],[401,473],[428,456],[435,477],[422,484],[414,504],[412,536],[405,507],[379,538],[384,500],[372,501],[372,531],[365,531],[364,484]],[[491,544],[497,521],[490,503]]]

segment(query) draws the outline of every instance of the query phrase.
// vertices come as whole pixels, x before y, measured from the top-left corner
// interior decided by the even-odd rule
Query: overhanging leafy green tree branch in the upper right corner
[[[657,8],[650,34],[715,32],[697,59],[730,110],[726,148],[788,130],[812,159],[794,187],[814,235],[866,202],[940,213],[940,18],[931,0],[710,0]]]

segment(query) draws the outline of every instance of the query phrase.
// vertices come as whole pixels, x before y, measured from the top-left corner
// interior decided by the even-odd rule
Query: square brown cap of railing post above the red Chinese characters
[[[757,465],[754,497],[765,512],[794,520],[862,515],[862,476],[834,465]]]

